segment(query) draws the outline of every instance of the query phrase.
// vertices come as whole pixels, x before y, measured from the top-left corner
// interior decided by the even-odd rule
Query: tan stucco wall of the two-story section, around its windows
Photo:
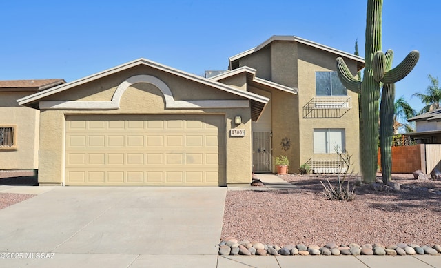
[[[256,76],[298,88],[298,95],[280,90],[271,92],[273,158],[280,154],[288,156],[289,172],[298,172],[298,167],[310,158],[336,156],[314,154],[314,127],[345,128],[345,145],[352,155],[353,171],[359,171],[357,94],[348,91],[352,107],[341,118],[303,118],[303,106],[316,96],[316,71],[336,70],[336,57],[336,54],[294,41],[273,41],[263,50],[240,59],[240,66],[247,65],[257,70]],[[356,62],[346,62],[351,72],[356,74]],[[291,141],[287,151],[280,145],[283,138]]]

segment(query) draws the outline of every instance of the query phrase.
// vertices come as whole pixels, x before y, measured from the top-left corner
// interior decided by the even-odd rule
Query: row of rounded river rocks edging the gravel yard
[[[415,254],[441,254],[441,245],[420,245],[398,243],[393,245],[364,244],[358,245],[351,243],[349,245],[337,245],[336,243],[327,243],[323,247],[318,245],[278,245],[263,244],[257,241],[238,241],[236,238],[228,237],[219,243],[219,255],[415,255]]]

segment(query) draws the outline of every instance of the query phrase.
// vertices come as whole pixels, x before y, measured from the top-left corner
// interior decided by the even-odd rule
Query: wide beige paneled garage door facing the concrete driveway
[[[223,185],[225,118],[68,116],[65,185]]]

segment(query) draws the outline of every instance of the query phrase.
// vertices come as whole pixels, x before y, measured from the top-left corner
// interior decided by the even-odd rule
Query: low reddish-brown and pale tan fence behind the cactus
[[[378,149],[378,166],[380,149]],[[441,144],[418,144],[392,147],[392,173],[413,173],[420,169],[430,174],[433,169],[441,170]]]

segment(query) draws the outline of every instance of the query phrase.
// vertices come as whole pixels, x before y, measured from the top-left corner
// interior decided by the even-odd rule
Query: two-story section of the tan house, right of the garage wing
[[[272,160],[279,155],[288,156],[290,172],[305,163],[313,172],[336,172],[336,145],[352,155],[353,171],[359,171],[358,94],[340,83],[338,56],[354,75],[365,66],[362,58],[347,52],[299,37],[274,36],[232,56],[232,71],[212,78],[239,87],[246,82],[249,92],[270,99],[261,119],[252,122],[256,172],[274,172]],[[247,80],[240,79],[247,70],[252,70]],[[256,88],[251,78],[296,90]]]

